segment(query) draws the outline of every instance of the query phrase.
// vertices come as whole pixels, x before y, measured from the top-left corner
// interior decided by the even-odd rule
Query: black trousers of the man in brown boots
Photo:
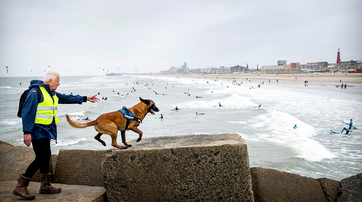
[[[33,150],[35,152],[35,159],[30,163],[28,168],[23,174],[24,177],[31,178],[40,169],[40,174],[49,173],[49,162],[50,162],[50,139],[49,138],[39,138],[31,140],[33,144]]]

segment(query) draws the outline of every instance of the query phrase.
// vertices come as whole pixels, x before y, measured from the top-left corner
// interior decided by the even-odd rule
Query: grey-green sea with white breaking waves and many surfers
[[[19,98],[32,79],[43,80],[0,78],[1,141],[25,146],[17,110]],[[348,84],[342,89],[335,85],[220,80],[216,76],[205,79],[201,75],[197,79],[177,75],[60,76],[57,92],[81,96],[100,93],[97,97],[107,100],[60,104],[58,140],[51,142],[51,150],[58,154],[60,149],[112,148],[109,135],[102,136],[107,144],[103,146],[93,138],[97,134],[94,127],[73,128],[66,114],[85,123],[87,120],[82,119],[87,117],[94,120],[122,106],[132,107],[141,97],[153,100],[160,109],[155,115],[149,113],[138,127],[144,138],[236,133],[248,146],[251,167],[341,180],[362,172],[362,84]],[[172,110],[176,106],[180,110]],[[164,118],[157,118],[161,114]],[[348,135],[327,130],[341,132],[343,127],[348,128],[341,121],[349,123],[349,119],[353,119],[357,129]],[[293,129],[295,124],[297,129]],[[122,145],[118,137],[118,144]],[[127,141],[137,138],[137,133],[126,132]]]

